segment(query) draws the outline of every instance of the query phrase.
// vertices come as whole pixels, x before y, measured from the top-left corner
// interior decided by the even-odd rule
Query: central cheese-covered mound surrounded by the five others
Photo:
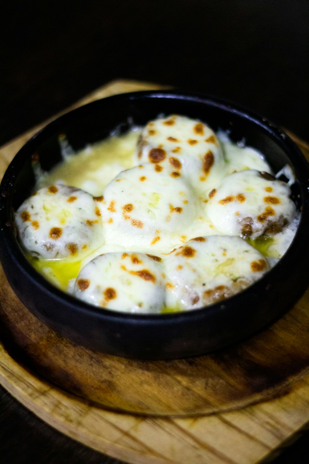
[[[104,191],[106,243],[162,248],[184,233],[197,214],[197,200],[183,175],[142,164],[121,172]],[[179,243],[179,237],[176,243]]]

